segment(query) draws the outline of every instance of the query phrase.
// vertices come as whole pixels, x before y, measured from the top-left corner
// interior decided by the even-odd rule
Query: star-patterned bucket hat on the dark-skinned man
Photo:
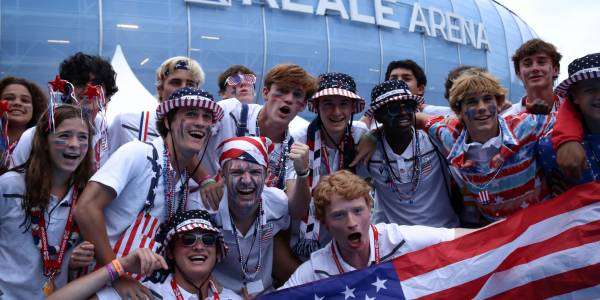
[[[394,101],[405,101],[417,107],[423,101],[423,97],[413,95],[406,82],[402,80],[385,81],[373,88],[371,92],[371,106],[365,114],[373,117],[379,108]]]

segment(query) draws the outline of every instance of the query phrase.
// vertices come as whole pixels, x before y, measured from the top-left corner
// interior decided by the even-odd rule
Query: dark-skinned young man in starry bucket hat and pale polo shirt
[[[446,164],[427,134],[414,128],[421,99],[401,80],[373,88],[366,114],[383,125],[366,165],[376,195],[373,222],[457,227]]]

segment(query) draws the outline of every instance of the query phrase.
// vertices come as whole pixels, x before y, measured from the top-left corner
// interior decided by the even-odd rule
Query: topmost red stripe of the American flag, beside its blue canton
[[[453,241],[407,253],[393,261],[398,279],[407,280],[503,246],[535,223],[600,202],[598,195],[600,183],[580,185],[551,201],[520,210],[494,226]],[[444,255],[440,255],[441,253]]]

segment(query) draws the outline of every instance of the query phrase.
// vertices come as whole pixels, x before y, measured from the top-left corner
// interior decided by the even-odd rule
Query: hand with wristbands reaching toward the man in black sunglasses
[[[160,268],[168,269],[165,259],[149,248],[138,248],[125,257],[119,258],[125,272],[150,276]]]

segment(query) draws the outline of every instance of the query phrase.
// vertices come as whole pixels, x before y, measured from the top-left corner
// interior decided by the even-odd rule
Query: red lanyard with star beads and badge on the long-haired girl
[[[73,207],[75,207],[76,203],[77,189],[73,187],[69,215],[67,217],[67,223],[65,224],[65,230],[63,232],[63,237],[59,247],[48,245],[45,210],[41,207],[31,208],[31,234],[33,236],[34,244],[40,249],[43,260],[42,267],[44,270],[44,276],[48,277],[48,280],[42,287],[44,295],[46,296],[54,292],[54,278],[60,274],[65,252],[69,248],[73,247],[79,238],[77,225],[73,224]]]

